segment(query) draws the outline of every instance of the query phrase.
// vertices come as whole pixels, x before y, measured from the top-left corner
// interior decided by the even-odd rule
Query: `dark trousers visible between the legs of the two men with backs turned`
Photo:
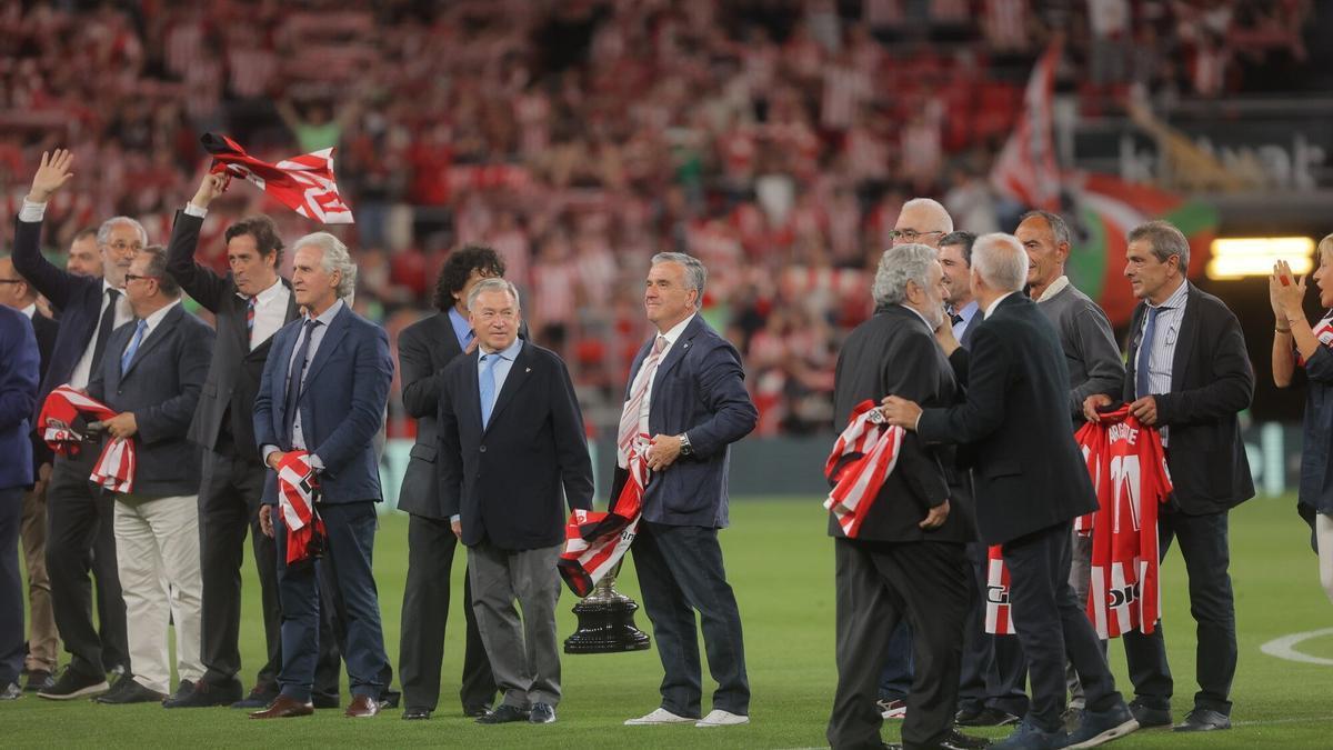
[[[1028,713],[1028,662],[1014,635],[986,633],[986,546],[968,542],[968,625],[962,638],[960,709],[997,709],[1021,717]]]

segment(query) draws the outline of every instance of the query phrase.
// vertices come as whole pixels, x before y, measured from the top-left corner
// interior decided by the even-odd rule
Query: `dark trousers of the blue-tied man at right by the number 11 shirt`
[[[1232,679],[1236,677],[1236,603],[1228,574],[1226,512],[1185,515],[1164,507],[1157,519],[1157,534],[1162,559],[1172,540],[1180,542],[1180,554],[1189,574],[1189,614],[1197,626],[1198,693],[1194,694],[1194,706],[1229,715]],[[1136,698],[1154,709],[1169,709],[1174,686],[1161,623],[1152,635],[1136,630],[1121,638]]]

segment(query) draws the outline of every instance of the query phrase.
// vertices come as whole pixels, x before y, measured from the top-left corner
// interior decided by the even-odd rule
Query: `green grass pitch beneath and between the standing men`
[[[693,726],[627,727],[621,722],[657,706],[661,666],[657,654],[565,655],[564,701],[549,726],[485,727],[463,718],[457,681],[463,646],[460,602],[452,602],[445,646],[444,698],[429,722],[403,722],[399,711],[351,721],[341,711],[309,719],[252,722],[244,711],[195,709],[168,711],[155,705],[100,706],[59,703],[31,694],[0,705],[4,745],[33,742],[56,747],[403,747],[427,745],[484,747],[814,747],[824,745],[833,685],[833,555],[817,499],[740,499],[732,504],[732,528],[722,532],[728,577],[745,623],[753,690],[753,723],[702,730]],[[1333,666],[1300,663],[1260,651],[1281,635],[1321,630],[1333,623],[1333,605],[1318,586],[1308,530],[1290,498],[1256,499],[1232,512],[1232,578],[1240,631],[1240,669],[1230,733],[1181,737],[1156,730],[1137,733],[1116,747],[1333,747]],[[376,581],[384,614],[385,646],[397,662],[403,582],[407,567],[407,516],[383,519],[376,544]],[[247,562],[249,566],[249,562]],[[637,599],[632,563],[620,589]],[[455,591],[461,562],[455,565]],[[257,583],[247,570],[247,619],[243,654],[249,683],[259,666],[263,634]],[[1193,630],[1185,598],[1184,566],[1173,550],[1162,569],[1162,601],[1172,667],[1174,714],[1189,710],[1193,683]],[[568,590],[561,597],[560,633],[573,631]],[[648,629],[647,617],[637,622]],[[1300,646],[1333,657],[1333,635]],[[1110,647],[1121,689],[1128,687],[1124,651]],[[712,689],[705,670],[705,694]],[[344,691],[344,703],[347,701]],[[708,710],[705,695],[704,710]],[[1005,730],[980,731],[1002,737]],[[886,723],[884,738],[897,738]],[[12,745],[12,743],[13,745]]]

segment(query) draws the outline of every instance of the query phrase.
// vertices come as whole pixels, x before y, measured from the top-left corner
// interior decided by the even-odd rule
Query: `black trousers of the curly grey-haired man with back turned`
[[[914,670],[905,747],[936,747],[958,702],[968,570],[962,544],[833,540],[837,691],[826,738],[834,749],[881,747],[874,705],[889,641],[905,618]]]

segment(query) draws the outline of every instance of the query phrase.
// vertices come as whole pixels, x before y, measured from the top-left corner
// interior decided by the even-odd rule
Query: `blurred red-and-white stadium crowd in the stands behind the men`
[[[627,288],[660,250],[714,270],[709,319],[746,355],[760,434],[822,428],[833,352],[870,307],[865,274],[909,195],[1010,228],[988,184],[1032,61],[1068,37],[1072,111],[1261,89],[1302,57],[1310,3],[868,0],[388,1],[328,7],[7,4],[0,190],[17,212],[43,149],[77,190],[45,242],[100,218],[153,242],[195,184],[199,135],[252,153],[337,145],[357,223],[357,310],[397,332],[448,251],[496,247],[535,340],[613,420],[637,343]],[[232,191],[203,228],[269,210]],[[397,391],[397,388],[395,388]],[[407,420],[393,407],[391,434]],[[600,418],[599,418],[600,416]]]

